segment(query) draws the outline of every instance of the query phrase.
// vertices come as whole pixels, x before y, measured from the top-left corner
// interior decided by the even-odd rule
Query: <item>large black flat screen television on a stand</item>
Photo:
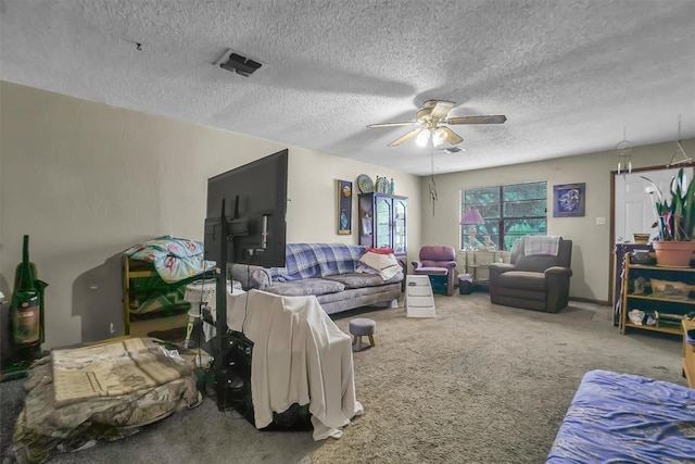
[[[287,176],[282,150],[207,179],[206,260],[285,266]]]

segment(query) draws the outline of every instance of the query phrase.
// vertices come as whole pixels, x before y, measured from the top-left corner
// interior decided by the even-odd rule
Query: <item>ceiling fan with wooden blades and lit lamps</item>
[[[444,124],[502,124],[507,121],[507,116],[504,115],[446,117],[450,110],[454,108],[455,104],[455,102],[448,100],[427,100],[422,108],[417,110],[415,113],[415,121],[408,121],[405,123],[369,124],[367,127],[417,125],[418,127],[415,129],[389,143],[389,147],[397,147],[413,137],[416,138],[415,142],[420,147],[426,147],[430,137],[432,138],[432,145],[434,147],[439,147],[445,141],[451,145],[464,141],[458,134],[450,129]]]

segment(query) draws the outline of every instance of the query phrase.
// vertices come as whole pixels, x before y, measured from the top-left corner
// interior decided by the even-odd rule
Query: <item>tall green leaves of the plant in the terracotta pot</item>
[[[670,198],[664,196],[652,179],[641,176],[654,187],[647,187],[647,193],[652,195],[657,222],[654,226],[659,228],[659,238],[662,241],[688,241],[695,239],[695,181],[687,184],[683,168],[671,179]],[[654,200],[654,195],[658,200]]]

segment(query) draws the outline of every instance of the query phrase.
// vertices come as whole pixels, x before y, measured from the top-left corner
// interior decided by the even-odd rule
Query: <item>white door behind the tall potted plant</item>
[[[678,167],[670,170],[644,171],[632,174],[616,174],[616,243],[633,242],[632,234],[657,234],[652,225],[656,222],[653,199],[645,189],[652,184],[641,176],[654,181],[666,198],[670,198],[671,179],[678,174]],[[693,168],[685,168],[685,177],[693,178]],[[658,197],[654,193],[654,201]]]

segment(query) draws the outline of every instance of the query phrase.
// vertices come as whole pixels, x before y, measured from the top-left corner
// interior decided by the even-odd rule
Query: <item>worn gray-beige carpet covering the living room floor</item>
[[[354,354],[365,414],[341,439],[261,432],[207,399],[135,436],[51,462],[540,463],[586,371],[685,385],[679,338],[620,335],[608,306],[571,303],[545,314],[491,305],[484,292],[435,296],[435,318],[407,318],[403,308],[361,315],[377,322],[377,346]],[[336,322],[346,331],[354,315]],[[0,384],[3,456],[21,385]]]

